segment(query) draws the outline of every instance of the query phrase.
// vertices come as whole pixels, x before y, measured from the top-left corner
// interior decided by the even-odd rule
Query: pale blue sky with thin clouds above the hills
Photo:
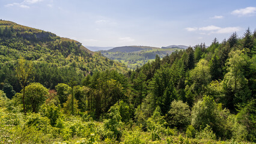
[[[0,19],[83,46],[210,46],[256,28],[255,0],[0,0]]]

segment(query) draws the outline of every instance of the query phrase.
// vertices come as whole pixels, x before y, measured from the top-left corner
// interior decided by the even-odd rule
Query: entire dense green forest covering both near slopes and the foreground
[[[0,143],[256,142],[256,31],[127,70],[0,23]]]

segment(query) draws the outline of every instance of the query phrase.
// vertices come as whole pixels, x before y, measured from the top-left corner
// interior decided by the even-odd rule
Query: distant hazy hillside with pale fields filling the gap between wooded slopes
[[[155,59],[156,55],[163,58],[163,56],[169,55],[175,50],[183,50],[183,48],[168,47],[166,49],[161,49],[159,47],[148,46],[123,46],[114,47],[110,50],[102,50],[100,52],[109,59],[123,62],[127,67],[135,69],[141,67],[148,61]]]

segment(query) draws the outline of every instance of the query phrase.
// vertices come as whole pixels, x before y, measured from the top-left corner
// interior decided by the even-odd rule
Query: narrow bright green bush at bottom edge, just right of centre
[[[159,140],[160,134],[164,133],[165,130],[166,121],[160,113],[160,107],[157,106],[151,118],[147,120],[147,128],[151,133],[152,140]]]

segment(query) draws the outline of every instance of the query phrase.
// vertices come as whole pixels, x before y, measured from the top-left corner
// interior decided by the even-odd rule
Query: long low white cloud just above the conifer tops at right
[[[200,28],[186,28],[187,31],[199,31],[199,34],[202,35],[209,35],[209,34],[229,34],[232,32],[240,31],[242,28],[239,26],[236,27],[225,27],[221,28],[219,26],[210,25],[210,26],[203,26]]]

